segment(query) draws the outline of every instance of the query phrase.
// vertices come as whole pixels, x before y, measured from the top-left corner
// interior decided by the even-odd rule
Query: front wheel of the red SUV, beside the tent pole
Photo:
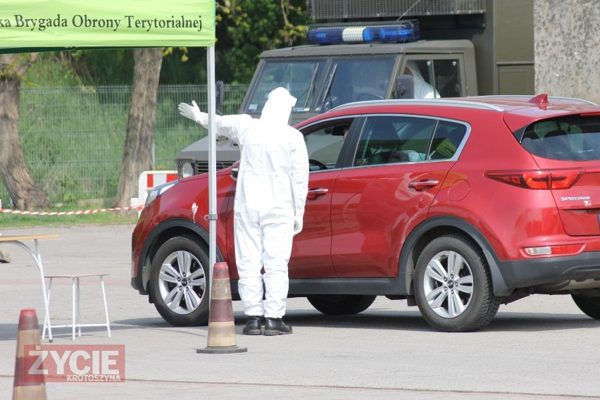
[[[150,272],[151,295],[156,310],[171,325],[208,323],[207,253],[194,236],[173,237],[156,251]]]

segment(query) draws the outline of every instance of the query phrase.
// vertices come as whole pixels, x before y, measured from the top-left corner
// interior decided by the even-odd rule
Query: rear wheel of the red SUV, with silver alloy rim
[[[414,289],[427,323],[443,332],[485,327],[500,306],[485,257],[465,235],[444,235],[425,246],[415,266]]]

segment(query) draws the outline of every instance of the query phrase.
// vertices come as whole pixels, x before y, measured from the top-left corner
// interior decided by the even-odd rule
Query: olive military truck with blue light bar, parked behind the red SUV
[[[533,0],[307,0],[304,46],[264,51],[239,113],[266,94],[298,101],[291,125],[352,101],[533,94]],[[217,169],[239,149],[217,137]],[[175,160],[180,177],[208,172],[208,137]]]

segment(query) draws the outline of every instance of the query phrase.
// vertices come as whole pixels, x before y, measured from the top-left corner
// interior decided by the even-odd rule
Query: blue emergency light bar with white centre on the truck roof
[[[413,42],[420,38],[418,20],[372,24],[318,24],[308,28],[308,43]]]

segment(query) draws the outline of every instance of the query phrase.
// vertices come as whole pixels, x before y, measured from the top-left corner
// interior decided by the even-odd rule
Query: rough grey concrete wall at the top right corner
[[[600,0],[535,0],[535,92],[600,104]]]

